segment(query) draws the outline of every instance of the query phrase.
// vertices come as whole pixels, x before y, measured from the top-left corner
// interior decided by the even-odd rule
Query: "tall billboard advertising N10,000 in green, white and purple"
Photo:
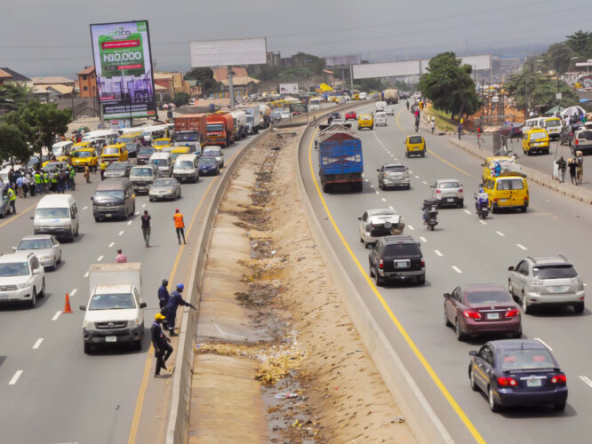
[[[148,21],[91,25],[91,42],[103,118],[156,116]]]

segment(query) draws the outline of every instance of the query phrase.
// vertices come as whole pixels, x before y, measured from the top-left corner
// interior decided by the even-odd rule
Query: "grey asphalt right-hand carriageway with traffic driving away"
[[[371,109],[366,105],[357,111]],[[505,285],[508,266],[516,266],[525,256],[564,254],[582,279],[591,282],[592,208],[530,184],[531,207],[526,213],[494,214],[479,220],[472,194],[481,178],[480,161],[453,146],[447,137],[423,131],[428,155],[406,159],[403,143],[412,125],[412,115],[400,104],[395,116],[388,117],[388,126],[358,131],[364,149],[362,193],[322,193],[313,140],[305,141],[300,174],[332,249],[453,440],[589,442],[592,355],[580,347],[592,333],[589,309],[579,315],[571,309],[523,314],[524,337],[539,338],[551,347],[567,375],[570,394],[565,411],[513,408],[493,414],[484,395],[472,392],[468,384],[468,352],[488,338],[457,342],[453,330],[444,327],[443,294],[463,283]],[[376,170],[396,160],[412,171],[412,189],[381,191]],[[465,208],[441,210],[440,225],[429,232],[422,226],[420,206],[437,178],[460,179]],[[359,242],[357,218],[364,210],[388,207],[404,216],[405,234],[421,243],[427,269],[423,286],[395,283],[377,288],[368,278],[369,250]]]

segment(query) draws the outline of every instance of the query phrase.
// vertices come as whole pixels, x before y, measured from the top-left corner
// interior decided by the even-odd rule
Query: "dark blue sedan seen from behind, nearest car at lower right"
[[[490,341],[468,353],[471,389],[483,391],[492,412],[507,406],[551,404],[564,410],[567,378],[556,359],[539,341]]]

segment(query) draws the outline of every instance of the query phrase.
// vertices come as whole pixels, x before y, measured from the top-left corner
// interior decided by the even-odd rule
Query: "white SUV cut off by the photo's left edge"
[[[0,303],[24,301],[30,307],[45,295],[45,272],[32,252],[0,256]]]

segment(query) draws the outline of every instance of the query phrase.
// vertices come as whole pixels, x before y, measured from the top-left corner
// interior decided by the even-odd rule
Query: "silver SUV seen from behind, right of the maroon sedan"
[[[524,258],[508,267],[508,290],[522,302],[524,313],[540,305],[571,305],[584,311],[584,282],[564,256]]]

